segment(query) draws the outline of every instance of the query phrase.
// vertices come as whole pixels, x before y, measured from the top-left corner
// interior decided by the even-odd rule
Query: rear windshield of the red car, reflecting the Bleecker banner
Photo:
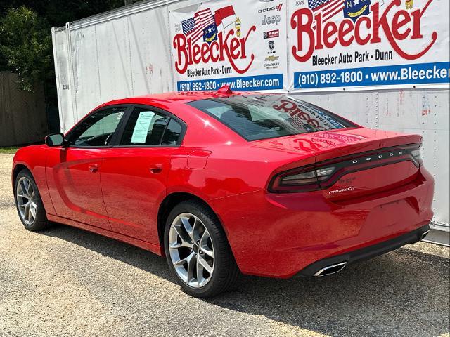
[[[285,95],[235,95],[186,104],[219,119],[246,140],[356,126],[316,105]]]

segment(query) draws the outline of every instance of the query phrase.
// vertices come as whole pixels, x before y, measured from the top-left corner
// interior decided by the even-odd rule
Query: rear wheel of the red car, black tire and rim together
[[[217,216],[198,201],[183,201],[169,213],[165,254],[172,274],[191,296],[210,297],[229,290],[238,267]]]

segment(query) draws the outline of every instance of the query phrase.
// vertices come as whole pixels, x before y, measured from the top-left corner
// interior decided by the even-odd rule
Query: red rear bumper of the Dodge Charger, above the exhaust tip
[[[433,192],[433,178],[421,168],[405,185],[354,199],[260,190],[213,199],[210,206],[241,272],[289,278],[317,261],[422,230],[432,220]]]

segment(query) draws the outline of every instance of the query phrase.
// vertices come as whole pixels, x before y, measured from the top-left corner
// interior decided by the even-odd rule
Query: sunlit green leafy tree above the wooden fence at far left
[[[37,81],[54,76],[49,24],[25,6],[10,8],[0,18],[0,57],[19,74],[19,87],[32,91]]]

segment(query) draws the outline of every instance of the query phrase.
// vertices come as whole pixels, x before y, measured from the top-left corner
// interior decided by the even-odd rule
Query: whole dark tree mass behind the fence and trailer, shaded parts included
[[[44,84],[50,131],[59,130],[51,27],[120,6],[124,0],[0,0],[0,71],[18,72],[27,91]]]

